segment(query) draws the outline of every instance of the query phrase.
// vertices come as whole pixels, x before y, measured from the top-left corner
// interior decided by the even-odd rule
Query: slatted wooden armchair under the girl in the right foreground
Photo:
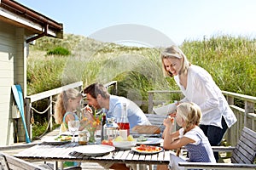
[[[243,127],[236,147],[212,147],[215,151],[232,151],[231,163],[179,162],[185,169],[256,169],[256,133]],[[222,150],[224,149],[224,150]]]

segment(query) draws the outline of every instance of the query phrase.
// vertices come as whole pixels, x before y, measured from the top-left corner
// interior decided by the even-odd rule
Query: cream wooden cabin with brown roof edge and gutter
[[[63,37],[62,24],[12,0],[0,0],[0,145],[25,141],[11,87],[20,84],[26,97],[26,57],[29,43],[40,37]]]

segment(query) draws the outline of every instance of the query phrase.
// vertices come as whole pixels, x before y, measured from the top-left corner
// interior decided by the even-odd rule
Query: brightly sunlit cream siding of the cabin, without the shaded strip
[[[12,144],[14,126],[10,116],[10,96],[14,83],[15,28],[3,22],[0,25],[0,144]]]

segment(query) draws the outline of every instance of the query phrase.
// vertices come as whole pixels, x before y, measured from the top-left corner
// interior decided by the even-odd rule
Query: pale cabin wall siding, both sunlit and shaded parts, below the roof
[[[23,28],[0,21],[0,145],[14,144],[14,119],[12,105],[14,97],[11,86],[20,83],[26,88],[26,46]],[[25,47],[25,48],[24,48]],[[26,91],[26,90],[25,90]],[[19,121],[20,122],[20,121]],[[21,128],[21,124],[20,127]],[[23,135],[21,133],[21,135]],[[20,136],[19,139],[24,137]]]

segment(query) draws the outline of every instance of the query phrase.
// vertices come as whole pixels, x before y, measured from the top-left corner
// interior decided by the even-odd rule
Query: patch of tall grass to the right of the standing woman
[[[184,42],[189,60],[210,72],[222,90],[256,96],[256,41],[246,37],[212,37]]]

